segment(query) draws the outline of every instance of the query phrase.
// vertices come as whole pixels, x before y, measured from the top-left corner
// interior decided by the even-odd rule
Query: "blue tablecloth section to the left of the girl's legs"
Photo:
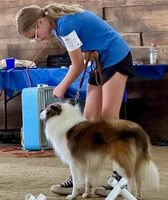
[[[36,87],[38,84],[56,86],[65,77],[67,71],[68,68],[30,68],[27,75],[26,69],[15,69],[13,71],[0,70],[0,88],[7,89],[8,96],[11,96],[12,91],[21,91],[23,88]],[[66,97],[75,96],[82,75],[83,73],[72,83],[65,95]],[[85,80],[80,89],[80,98],[85,98],[86,96],[87,79],[88,73],[86,73]]]

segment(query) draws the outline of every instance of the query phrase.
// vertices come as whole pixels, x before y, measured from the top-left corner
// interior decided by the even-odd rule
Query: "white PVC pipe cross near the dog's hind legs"
[[[120,179],[119,182],[115,178],[110,177],[108,180],[108,184],[111,185],[113,189],[105,200],[115,200],[119,194],[122,195],[126,200],[137,200],[126,189],[127,183],[128,183],[128,180],[123,177]]]

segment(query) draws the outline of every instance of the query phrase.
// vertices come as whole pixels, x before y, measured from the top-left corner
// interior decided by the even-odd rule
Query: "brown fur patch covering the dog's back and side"
[[[76,159],[86,159],[89,152],[109,154],[120,164],[120,157],[130,160],[131,146],[135,146],[139,154],[149,158],[149,138],[146,132],[137,124],[125,120],[113,122],[84,121],[73,126],[67,132],[68,145]],[[82,156],[81,156],[82,155]],[[126,162],[124,162],[126,165]]]

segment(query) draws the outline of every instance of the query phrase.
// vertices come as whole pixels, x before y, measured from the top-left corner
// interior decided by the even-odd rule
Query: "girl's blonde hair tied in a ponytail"
[[[36,21],[41,17],[47,17],[50,23],[60,16],[83,12],[78,4],[65,5],[61,3],[49,4],[45,8],[36,5],[22,8],[16,15],[16,26],[19,34],[26,33],[35,27]]]

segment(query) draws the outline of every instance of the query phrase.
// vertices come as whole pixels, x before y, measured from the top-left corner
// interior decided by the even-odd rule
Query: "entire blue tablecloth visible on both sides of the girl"
[[[164,73],[168,68],[168,64],[159,65],[135,65],[135,76],[138,79],[163,79]],[[89,70],[89,68],[88,68]],[[31,80],[31,86],[35,87],[37,84],[48,84],[49,86],[58,85],[65,77],[68,68],[30,68],[28,74]],[[81,80],[82,74],[70,86],[66,93],[66,97],[73,97],[76,94],[77,88]],[[81,88],[80,97],[84,98],[86,95],[88,73],[85,75],[85,80]],[[30,87],[30,82],[26,74],[25,68],[15,69],[13,71],[0,70],[0,88],[12,91],[21,91],[23,88]],[[9,93],[8,93],[9,94]]]

